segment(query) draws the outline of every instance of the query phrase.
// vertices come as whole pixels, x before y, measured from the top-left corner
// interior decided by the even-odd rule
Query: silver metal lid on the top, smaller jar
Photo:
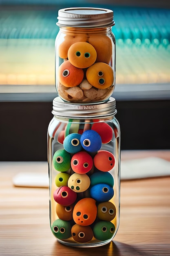
[[[59,27],[111,27],[115,25],[113,11],[104,8],[70,7],[58,11]]]

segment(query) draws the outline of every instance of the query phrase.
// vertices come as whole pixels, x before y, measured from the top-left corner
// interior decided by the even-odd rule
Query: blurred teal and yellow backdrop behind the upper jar
[[[170,83],[166,2],[0,0],[0,85],[55,86],[57,13],[75,6],[114,11],[117,85]]]

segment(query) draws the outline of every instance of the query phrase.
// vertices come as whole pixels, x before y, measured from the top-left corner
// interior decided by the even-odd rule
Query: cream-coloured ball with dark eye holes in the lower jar
[[[68,179],[68,187],[75,192],[86,191],[91,184],[91,180],[87,174],[74,173]]]

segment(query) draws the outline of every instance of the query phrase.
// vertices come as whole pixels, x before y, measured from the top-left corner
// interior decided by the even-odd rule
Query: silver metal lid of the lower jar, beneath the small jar
[[[116,100],[110,97],[110,100],[103,103],[77,104],[64,102],[60,97],[53,99],[52,114],[57,117],[67,119],[95,119],[99,117],[113,117],[117,113]]]

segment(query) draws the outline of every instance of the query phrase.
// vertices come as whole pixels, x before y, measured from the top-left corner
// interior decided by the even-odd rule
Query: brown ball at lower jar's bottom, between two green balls
[[[71,228],[71,236],[78,243],[87,243],[93,238],[93,230],[90,226],[75,224]]]

